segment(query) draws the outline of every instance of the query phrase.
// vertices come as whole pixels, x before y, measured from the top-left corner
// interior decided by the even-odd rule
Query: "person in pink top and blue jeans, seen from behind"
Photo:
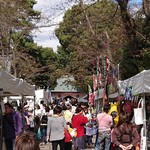
[[[103,112],[97,115],[98,136],[95,143],[95,150],[109,150],[111,144],[112,116],[108,115],[109,105],[105,105]]]

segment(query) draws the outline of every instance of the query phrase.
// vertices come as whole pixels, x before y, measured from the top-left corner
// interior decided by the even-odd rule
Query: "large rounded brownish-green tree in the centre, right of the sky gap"
[[[87,83],[92,82],[92,74],[96,73],[93,61],[97,57],[109,55],[114,65],[120,59],[117,54],[122,53],[120,45],[124,38],[120,34],[123,29],[117,24],[121,18],[116,9],[113,1],[93,4],[81,1],[65,13],[56,30],[61,44],[58,57],[60,63],[63,62],[62,68],[73,74],[75,84],[84,90],[87,90]]]

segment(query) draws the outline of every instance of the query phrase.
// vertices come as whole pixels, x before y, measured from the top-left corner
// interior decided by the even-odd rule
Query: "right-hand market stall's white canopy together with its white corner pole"
[[[143,106],[143,149],[147,149],[147,126],[146,126],[146,108],[145,108],[145,97],[150,94],[150,70],[143,70],[137,75],[123,80],[118,81],[119,94],[125,95],[126,89],[130,88],[132,97],[139,95],[142,98]],[[136,116],[135,116],[136,117]]]

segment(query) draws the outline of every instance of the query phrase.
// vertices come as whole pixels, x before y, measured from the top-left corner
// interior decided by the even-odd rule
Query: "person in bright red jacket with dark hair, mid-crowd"
[[[72,127],[77,130],[77,136],[74,139],[75,149],[85,149],[85,132],[84,126],[88,122],[84,110],[81,106],[76,108],[75,114],[72,117]]]

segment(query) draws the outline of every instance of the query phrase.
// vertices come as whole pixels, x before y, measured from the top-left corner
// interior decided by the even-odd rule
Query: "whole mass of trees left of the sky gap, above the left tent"
[[[54,88],[59,74],[57,55],[51,48],[37,46],[32,38],[40,19],[40,12],[33,10],[35,4],[35,0],[0,0],[1,56],[10,60],[16,77],[37,87]]]

